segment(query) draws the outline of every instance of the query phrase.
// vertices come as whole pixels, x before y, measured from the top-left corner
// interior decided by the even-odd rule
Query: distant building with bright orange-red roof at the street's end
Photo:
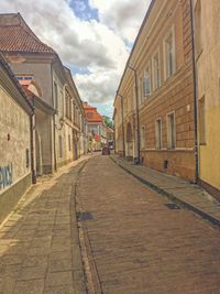
[[[107,131],[101,115],[96,107],[84,102],[88,128],[88,149],[100,151],[107,144]]]

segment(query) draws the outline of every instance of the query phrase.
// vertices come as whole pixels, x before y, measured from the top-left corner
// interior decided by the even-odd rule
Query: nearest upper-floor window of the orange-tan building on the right
[[[165,69],[166,78],[170,77],[175,72],[175,50],[174,33],[172,32],[165,41]]]

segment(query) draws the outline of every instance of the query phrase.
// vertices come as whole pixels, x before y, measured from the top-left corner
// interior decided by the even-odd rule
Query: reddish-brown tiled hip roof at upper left
[[[16,14],[15,14],[16,15]],[[0,19],[6,17],[0,14]],[[44,44],[28,26],[20,14],[20,23],[0,24],[0,51],[2,52],[30,52],[55,53],[53,48]]]

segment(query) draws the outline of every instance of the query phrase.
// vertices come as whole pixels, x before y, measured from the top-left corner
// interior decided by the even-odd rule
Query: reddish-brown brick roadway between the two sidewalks
[[[220,293],[220,233],[127,174],[91,159],[78,185],[94,281],[103,294]]]

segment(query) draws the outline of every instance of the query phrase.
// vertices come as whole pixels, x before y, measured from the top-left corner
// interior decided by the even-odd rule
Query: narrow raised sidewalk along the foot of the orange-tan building
[[[134,165],[117,155],[111,155],[111,159],[142,183],[220,226],[220,203],[199,186],[146,166]]]

